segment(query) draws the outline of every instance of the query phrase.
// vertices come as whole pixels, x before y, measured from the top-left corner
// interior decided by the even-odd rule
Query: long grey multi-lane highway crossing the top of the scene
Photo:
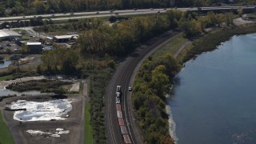
[[[255,10],[255,6],[214,6],[214,7],[201,7],[202,11],[209,10],[238,10],[242,8],[244,10]],[[139,10],[110,10],[105,11],[93,11],[93,12],[78,12],[78,13],[63,13],[63,14],[39,14],[39,15],[27,15],[17,17],[2,17],[0,22],[11,22],[17,20],[29,20],[30,18],[42,17],[43,19],[51,19],[53,21],[67,21],[69,19],[81,19],[81,18],[99,18],[110,17],[111,15],[139,15],[139,14],[156,14],[166,12],[166,10],[191,10],[197,11],[198,7],[186,7],[186,8],[167,8],[167,9],[139,9]]]

